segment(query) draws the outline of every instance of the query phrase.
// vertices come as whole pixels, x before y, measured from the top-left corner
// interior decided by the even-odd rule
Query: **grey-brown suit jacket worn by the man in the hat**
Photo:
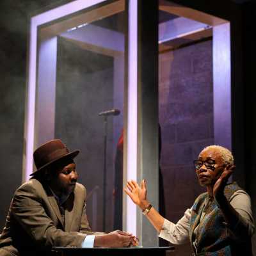
[[[33,255],[52,246],[81,246],[92,232],[86,216],[86,189],[77,183],[65,202],[65,224],[51,190],[31,179],[15,191],[0,237],[0,256]]]

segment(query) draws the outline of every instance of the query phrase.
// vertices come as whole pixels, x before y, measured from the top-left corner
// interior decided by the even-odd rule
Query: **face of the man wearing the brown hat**
[[[76,164],[73,160],[56,166],[56,175],[51,180],[51,188],[58,195],[69,195],[74,191],[77,182]]]

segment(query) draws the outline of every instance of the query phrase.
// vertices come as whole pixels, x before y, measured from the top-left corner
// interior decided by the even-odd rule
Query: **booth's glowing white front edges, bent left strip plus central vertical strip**
[[[106,0],[76,0],[47,12],[31,17],[29,38],[28,85],[24,127],[25,154],[23,159],[22,182],[29,179],[33,171],[36,107],[36,58],[38,26],[83,10]],[[137,0],[129,1],[129,55],[128,55],[128,97],[127,97],[127,179],[137,178]],[[126,208],[126,209],[125,209]],[[136,235],[136,205],[127,200],[124,215],[124,230]]]

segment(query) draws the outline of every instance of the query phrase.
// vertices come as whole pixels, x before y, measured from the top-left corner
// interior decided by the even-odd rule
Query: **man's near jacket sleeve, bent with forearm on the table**
[[[36,246],[81,246],[86,234],[57,228],[44,208],[44,200],[32,186],[20,187],[13,196],[12,218]],[[22,240],[22,237],[20,237]]]

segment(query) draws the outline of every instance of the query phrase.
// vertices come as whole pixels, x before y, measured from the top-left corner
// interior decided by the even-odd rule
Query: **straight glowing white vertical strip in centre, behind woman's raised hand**
[[[137,13],[138,0],[129,1],[127,179],[137,180]],[[136,205],[127,198],[127,231],[136,236]]]

